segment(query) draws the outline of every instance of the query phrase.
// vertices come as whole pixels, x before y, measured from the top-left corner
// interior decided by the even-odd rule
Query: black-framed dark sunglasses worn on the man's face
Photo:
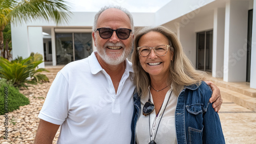
[[[132,30],[125,28],[116,30],[112,30],[110,28],[99,28],[97,31],[99,31],[99,36],[104,39],[110,38],[113,35],[113,32],[116,31],[117,37],[123,40],[129,38],[130,33],[132,32]]]

